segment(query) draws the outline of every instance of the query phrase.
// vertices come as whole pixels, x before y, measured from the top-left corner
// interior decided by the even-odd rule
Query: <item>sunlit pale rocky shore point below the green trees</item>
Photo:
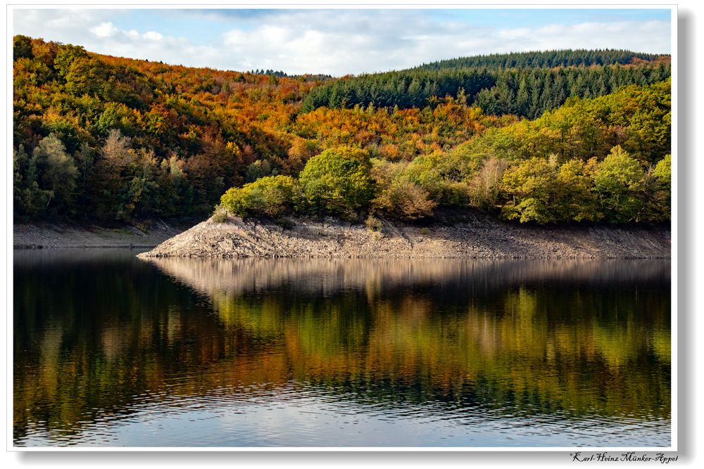
[[[670,229],[517,226],[489,217],[429,227],[384,220],[381,231],[296,219],[283,229],[231,217],[203,221],[139,257],[668,258]]]

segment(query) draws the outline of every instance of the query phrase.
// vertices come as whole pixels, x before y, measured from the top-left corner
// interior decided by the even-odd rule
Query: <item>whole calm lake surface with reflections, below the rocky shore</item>
[[[14,252],[15,446],[668,446],[670,262]]]

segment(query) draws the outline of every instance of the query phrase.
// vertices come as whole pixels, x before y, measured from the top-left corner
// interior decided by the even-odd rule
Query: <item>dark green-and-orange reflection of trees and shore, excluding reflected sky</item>
[[[14,439],[134,402],[313,386],[365,406],[670,418],[670,262],[15,252]]]

